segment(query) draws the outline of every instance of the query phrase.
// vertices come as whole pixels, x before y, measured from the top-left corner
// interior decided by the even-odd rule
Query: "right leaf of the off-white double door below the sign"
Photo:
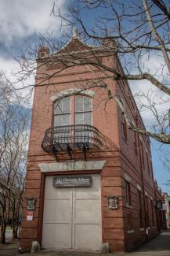
[[[76,187],[73,194],[74,249],[99,250],[102,244],[100,176],[91,176],[92,187]]]

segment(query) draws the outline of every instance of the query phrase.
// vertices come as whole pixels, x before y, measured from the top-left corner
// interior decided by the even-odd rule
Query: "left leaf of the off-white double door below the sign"
[[[52,186],[52,176],[45,179],[42,247],[71,248],[72,191]]]

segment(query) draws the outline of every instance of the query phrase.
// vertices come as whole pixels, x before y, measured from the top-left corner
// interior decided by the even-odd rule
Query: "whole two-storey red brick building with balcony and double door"
[[[107,101],[106,89],[97,86],[105,83],[112,94],[122,95],[128,116],[144,128],[128,83],[81,62],[82,55],[94,61],[95,53],[95,61],[121,70],[108,46],[88,46],[74,35],[56,54],[46,46],[38,51],[24,250],[31,250],[34,240],[45,249],[100,250],[107,243],[110,251],[131,250],[161,229],[150,139],[128,130],[117,103]],[[75,57],[80,65],[66,68],[61,61]]]

